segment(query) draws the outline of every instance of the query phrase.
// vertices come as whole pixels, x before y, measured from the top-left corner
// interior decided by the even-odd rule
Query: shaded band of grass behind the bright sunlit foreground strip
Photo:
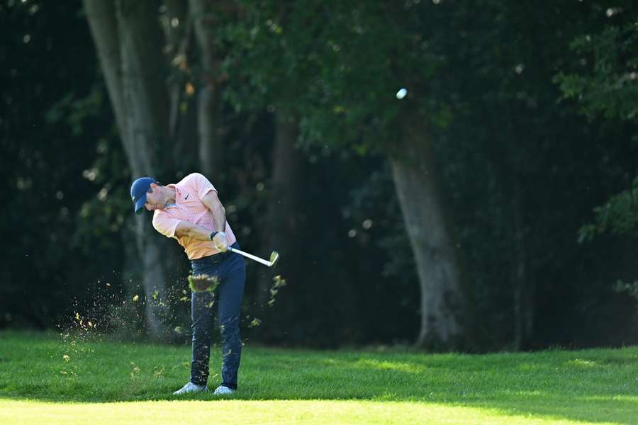
[[[246,346],[233,399],[366,399],[498,409],[503,414],[634,424],[638,349],[459,355]],[[67,357],[65,357],[67,356]],[[219,380],[217,348],[211,378]],[[187,346],[85,342],[0,333],[0,398],[49,402],[173,397]]]

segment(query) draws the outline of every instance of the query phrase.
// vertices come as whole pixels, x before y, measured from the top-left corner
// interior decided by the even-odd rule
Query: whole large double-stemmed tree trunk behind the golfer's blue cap
[[[164,86],[162,39],[154,2],[84,0],[108,94],[115,111],[121,140],[134,177],[158,176],[166,164],[168,99]],[[145,319],[150,336],[162,339],[160,321],[164,307],[152,302],[165,295],[164,253],[148,217],[136,217],[142,287],[146,295]],[[127,283],[125,283],[127,284]],[[128,292],[134,290],[127,288]]]

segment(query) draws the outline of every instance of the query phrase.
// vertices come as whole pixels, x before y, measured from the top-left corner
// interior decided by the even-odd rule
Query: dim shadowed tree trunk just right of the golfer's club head
[[[267,258],[272,250],[281,255],[279,268],[286,270],[286,278],[298,278],[296,266],[301,263],[300,212],[303,191],[303,154],[294,147],[298,137],[296,120],[283,111],[275,113],[275,141],[272,151],[272,173],[264,226],[264,249]],[[270,297],[272,276],[262,273],[257,288],[257,302],[264,306]]]

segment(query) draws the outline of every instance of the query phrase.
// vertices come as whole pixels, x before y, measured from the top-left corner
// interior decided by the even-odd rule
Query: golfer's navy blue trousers
[[[239,248],[239,244],[231,245]],[[193,275],[217,276],[219,284],[213,293],[191,292],[193,324],[193,359],[191,382],[206,385],[211,358],[213,307],[217,305],[222,345],[222,385],[237,389],[237,370],[242,356],[239,319],[246,282],[246,263],[242,256],[230,251],[191,261]]]

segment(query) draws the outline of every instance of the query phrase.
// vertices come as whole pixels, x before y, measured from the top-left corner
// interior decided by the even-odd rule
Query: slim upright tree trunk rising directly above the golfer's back
[[[197,94],[197,130],[201,172],[223,186],[224,128],[222,126],[222,99],[218,72],[220,59],[215,48],[216,2],[191,0],[191,17],[195,36],[201,50],[202,69]]]

